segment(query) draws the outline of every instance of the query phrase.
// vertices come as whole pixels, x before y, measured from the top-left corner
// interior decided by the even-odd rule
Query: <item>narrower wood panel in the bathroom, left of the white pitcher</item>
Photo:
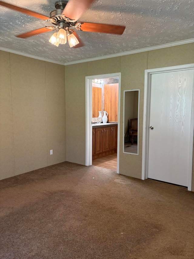
[[[102,111],[102,88],[92,87],[92,118],[97,118],[99,111]]]

